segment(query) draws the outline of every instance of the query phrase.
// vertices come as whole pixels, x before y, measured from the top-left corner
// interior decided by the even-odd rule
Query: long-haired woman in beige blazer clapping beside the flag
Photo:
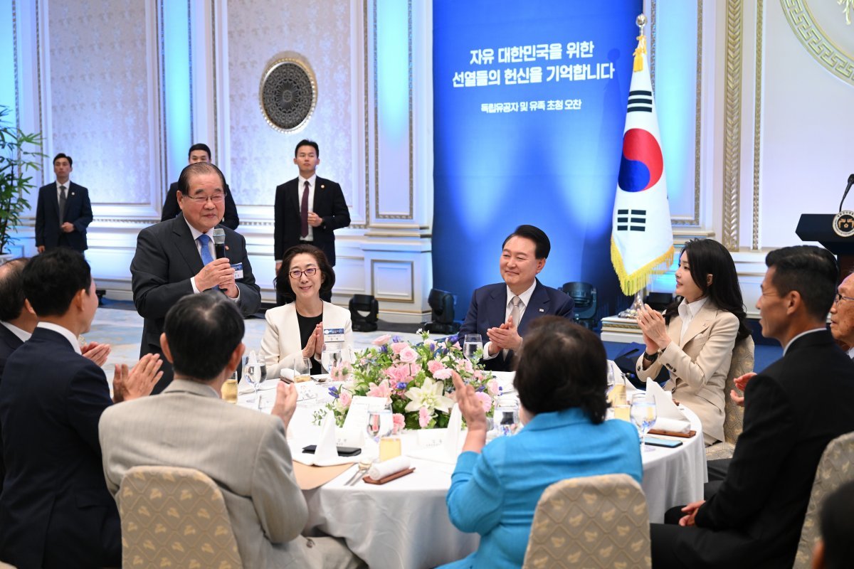
[[[676,270],[676,299],[664,314],[649,306],[638,325],[646,351],[638,358],[641,380],[664,366],[664,386],[703,424],[705,444],[723,440],[724,384],[735,342],[750,335],[735,264],[711,239],[687,241]]]

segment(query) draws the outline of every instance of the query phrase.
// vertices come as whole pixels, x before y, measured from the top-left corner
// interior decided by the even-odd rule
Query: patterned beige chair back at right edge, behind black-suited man
[[[812,549],[821,537],[818,514],[822,503],[830,493],[849,480],[854,480],[854,433],[847,433],[830,441],[822,454],[822,460],[818,462],[810,505],[806,508],[798,554],[795,556],[795,569],[809,569]]]

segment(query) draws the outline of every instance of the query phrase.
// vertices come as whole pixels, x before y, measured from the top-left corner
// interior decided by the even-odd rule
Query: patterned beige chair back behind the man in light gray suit
[[[118,502],[122,566],[243,567],[222,492],[204,473],[133,467]]]

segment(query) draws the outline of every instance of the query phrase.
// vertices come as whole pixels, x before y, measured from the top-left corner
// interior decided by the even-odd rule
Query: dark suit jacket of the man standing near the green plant
[[[74,230],[65,233],[59,226],[63,222],[73,224]],[[66,189],[65,215],[60,221],[59,200],[56,197],[56,182],[38,189],[36,203],[36,247],[45,249],[67,245],[83,253],[86,248],[86,228],[92,223],[92,205],[89,190],[69,180]],[[64,243],[60,242],[63,238]]]

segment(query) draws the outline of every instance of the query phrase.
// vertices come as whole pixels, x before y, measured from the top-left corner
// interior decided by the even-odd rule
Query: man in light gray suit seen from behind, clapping
[[[184,296],[168,311],[161,347],[175,379],[151,404],[116,405],[101,417],[108,490],[118,498],[132,467],[196,468],[222,491],[243,566],[364,566],[342,540],[300,535],[308,509],[285,438],[293,386],[278,385],[271,415],[219,398],[242,339],[243,317],[223,294]]]

